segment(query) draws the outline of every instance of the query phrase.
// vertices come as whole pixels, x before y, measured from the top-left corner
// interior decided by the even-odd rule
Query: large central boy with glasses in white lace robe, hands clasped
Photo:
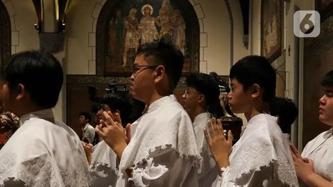
[[[130,143],[119,114],[103,113],[96,132],[121,158],[116,186],[198,186],[196,135],[172,95],[183,61],[178,49],[162,41],[138,48],[129,90],[148,109],[131,125],[135,132]]]

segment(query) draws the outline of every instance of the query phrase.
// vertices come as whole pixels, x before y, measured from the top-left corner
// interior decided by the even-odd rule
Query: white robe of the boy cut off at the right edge
[[[333,181],[333,129],[325,131],[305,146],[302,157],[314,161],[314,172],[328,181]],[[300,185],[305,186],[305,185]]]

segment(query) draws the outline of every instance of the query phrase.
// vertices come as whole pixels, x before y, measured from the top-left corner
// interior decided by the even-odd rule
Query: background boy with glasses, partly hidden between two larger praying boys
[[[187,89],[182,95],[182,107],[193,122],[196,132],[196,144],[200,151],[200,168],[198,169],[198,186],[212,186],[218,175],[214,159],[210,155],[203,130],[207,121],[213,116],[223,116],[219,102],[219,84],[214,77],[205,73],[190,73],[186,78]]]

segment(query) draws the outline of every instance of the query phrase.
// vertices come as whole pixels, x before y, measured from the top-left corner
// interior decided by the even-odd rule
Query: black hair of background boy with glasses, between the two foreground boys
[[[219,84],[217,84],[214,76],[207,75],[206,73],[189,73],[185,81],[187,87],[192,87],[205,96],[208,112],[214,116],[221,115]]]

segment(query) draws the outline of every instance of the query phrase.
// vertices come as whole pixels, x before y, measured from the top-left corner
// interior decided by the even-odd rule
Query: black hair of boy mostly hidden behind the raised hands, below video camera
[[[121,91],[107,93],[101,98],[100,103],[108,105],[111,112],[119,110],[121,113],[121,123],[126,125],[130,123],[130,114],[132,114],[133,100],[130,94]]]

